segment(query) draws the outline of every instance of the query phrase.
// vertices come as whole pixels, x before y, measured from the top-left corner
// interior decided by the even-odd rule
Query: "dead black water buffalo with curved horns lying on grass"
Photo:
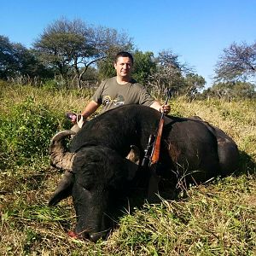
[[[61,131],[52,138],[51,165],[66,172],[49,205],[73,196],[76,236],[96,241],[108,234],[108,213],[116,195],[140,172],[125,156],[135,145],[142,160],[159,119],[160,113],[153,108],[125,105],[87,122],[68,149],[63,141],[72,131]],[[173,183],[182,177],[200,183],[236,170],[236,143],[223,131],[198,118],[164,119],[159,175]]]

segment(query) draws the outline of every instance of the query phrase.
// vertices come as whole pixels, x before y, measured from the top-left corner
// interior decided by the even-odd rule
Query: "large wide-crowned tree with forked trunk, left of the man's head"
[[[105,58],[115,47],[125,44],[131,44],[125,33],[102,26],[88,26],[82,20],[61,18],[44,29],[34,47],[42,60],[61,74],[61,78],[71,76],[80,88],[81,79],[90,65]]]

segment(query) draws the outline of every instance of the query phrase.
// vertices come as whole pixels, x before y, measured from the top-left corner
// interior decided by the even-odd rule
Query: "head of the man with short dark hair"
[[[114,68],[117,73],[117,77],[121,80],[131,79],[131,68],[133,65],[133,57],[130,53],[121,51],[114,60]]]

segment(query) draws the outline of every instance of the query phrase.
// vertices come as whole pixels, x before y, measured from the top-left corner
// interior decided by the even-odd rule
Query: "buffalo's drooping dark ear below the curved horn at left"
[[[73,172],[65,172],[61,182],[58,184],[54,195],[49,200],[49,207],[55,206],[59,201],[72,195],[72,188],[74,182]]]

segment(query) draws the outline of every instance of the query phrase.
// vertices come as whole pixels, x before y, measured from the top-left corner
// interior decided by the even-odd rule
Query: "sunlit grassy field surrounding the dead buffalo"
[[[0,255],[256,255],[256,102],[171,100],[172,115],[198,115],[240,150],[239,171],[190,187],[175,201],[127,206],[107,241],[67,236],[72,199],[48,207],[61,173],[49,166],[49,140],[71,124],[93,90],[0,82]]]

